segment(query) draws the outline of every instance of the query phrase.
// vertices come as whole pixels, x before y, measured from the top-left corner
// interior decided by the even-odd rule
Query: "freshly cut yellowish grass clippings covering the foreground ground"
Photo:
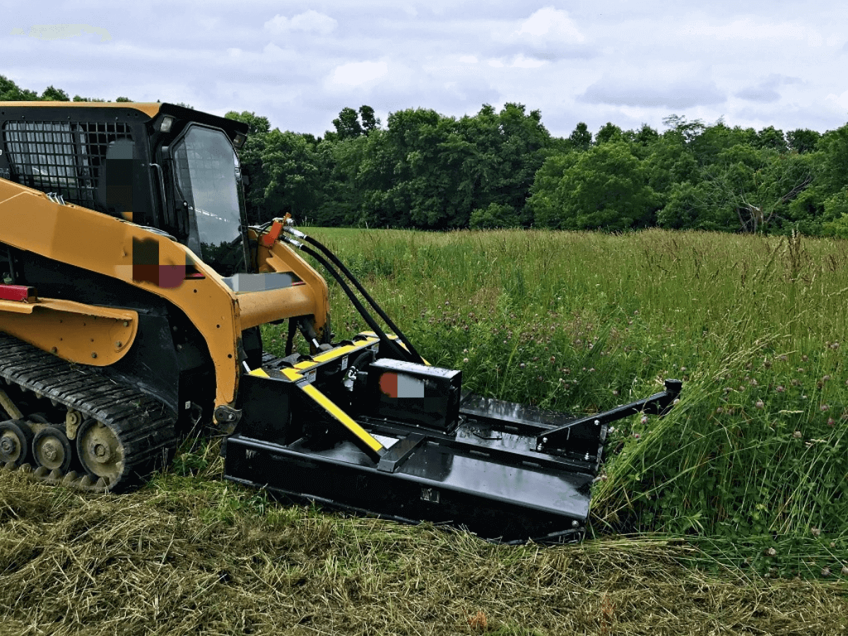
[[[665,541],[498,546],[220,480],[94,495],[0,471],[0,633],[845,633],[839,583],[683,566]]]

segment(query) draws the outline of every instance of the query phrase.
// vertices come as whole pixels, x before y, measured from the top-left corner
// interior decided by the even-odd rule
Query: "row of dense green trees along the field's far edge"
[[[0,99],[70,98],[0,75]],[[404,109],[385,126],[363,105],[342,109],[333,130],[315,137],[272,130],[252,112],[226,117],[250,126],[240,158],[254,223],[290,213],[321,226],[848,237],[848,124],[756,131],[672,114],[662,131],[608,123],[593,134],[579,123],[554,137],[541,113],[520,103],[484,104],[460,118]]]

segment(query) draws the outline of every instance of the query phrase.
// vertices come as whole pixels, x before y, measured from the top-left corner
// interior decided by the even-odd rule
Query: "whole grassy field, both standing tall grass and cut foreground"
[[[494,546],[280,506],[220,482],[215,444],[122,497],[3,474],[0,633],[848,629],[848,243],[310,233],[466,388],[584,413],[684,380],[665,418],[617,423],[594,538]],[[365,330],[330,288],[337,337]]]

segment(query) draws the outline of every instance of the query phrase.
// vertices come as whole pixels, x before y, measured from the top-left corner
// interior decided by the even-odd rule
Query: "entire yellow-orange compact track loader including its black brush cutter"
[[[661,414],[680,382],[582,418],[464,392],[290,219],[248,226],[247,132],[167,103],[0,103],[0,463],[117,492],[214,421],[237,483],[493,540],[579,538],[609,422]],[[370,332],[333,340],[297,252]],[[265,353],[259,326],[286,321],[286,354]]]

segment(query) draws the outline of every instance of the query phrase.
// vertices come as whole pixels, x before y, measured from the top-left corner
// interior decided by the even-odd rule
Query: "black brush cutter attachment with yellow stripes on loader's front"
[[[227,478],[499,542],[577,540],[610,422],[662,414],[680,392],[667,380],[661,393],[580,418],[483,398],[462,391],[462,371],[424,363],[390,321],[397,336],[366,321],[374,332],[313,356],[265,354],[243,375]]]

